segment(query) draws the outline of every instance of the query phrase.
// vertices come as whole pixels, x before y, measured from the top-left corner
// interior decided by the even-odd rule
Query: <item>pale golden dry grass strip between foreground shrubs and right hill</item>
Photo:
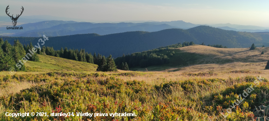
[[[205,71],[200,71],[197,73],[203,73]],[[133,72],[133,71],[121,71],[119,70],[118,73],[141,73],[141,72]],[[249,71],[249,73],[230,73],[229,71],[223,71],[223,72],[214,72],[216,75],[205,75],[205,76],[189,76],[184,74],[185,72],[143,72],[143,75],[137,75],[137,76],[117,76],[118,78],[121,78],[123,80],[138,80],[138,81],[145,81],[149,84],[157,84],[161,82],[168,82],[168,81],[178,81],[178,80],[188,80],[193,78],[202,78],[202,79],[208,79],[208,78],[223,78],[228,79],[230,77],[236,78],[236,77],[245,77],[247,75],[253,75],[253,76],[262,76],[265,78],[269,78],[269,70],[264,70],[262,72],[257,73],[256,71]],[[191,72],[190,72],[191,73]],[[106,73],[109,76],[112,76],[115,73]],[[114,76],[114,75],[113,75]]]

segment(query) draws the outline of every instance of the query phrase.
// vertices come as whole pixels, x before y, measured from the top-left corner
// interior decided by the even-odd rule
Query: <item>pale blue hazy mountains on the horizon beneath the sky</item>
[[[40,37],[43,35],[52,37],[88,33],[106,35],[128,31],[154,32],[169,28],[189,29],[199,25],[201,24],[186,23],[183,21],[144,23],[89,23],[74,21],[43,21],[18,25],[23,26],[22,30],[7,30],[6,27],[0,27],[0,35],[17,37]],[[234,30],[242,32],[269,32],[269,28],[253,25],[213,24],[209,26],[218,27],[224,30]]]

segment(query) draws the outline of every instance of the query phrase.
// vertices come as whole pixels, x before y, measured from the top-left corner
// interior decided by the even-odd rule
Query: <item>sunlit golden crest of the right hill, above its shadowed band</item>
[[[179,50],[206,55],[200,61],[210,61],[217,63],[219,61],[230,60],[232,62],[265,62],[269,60],[269,47],[256,48],[249,50],[249,48],[214,48],[208,46],[187,46],[178,48]],[[261,54],[264,51],[264,54]]]

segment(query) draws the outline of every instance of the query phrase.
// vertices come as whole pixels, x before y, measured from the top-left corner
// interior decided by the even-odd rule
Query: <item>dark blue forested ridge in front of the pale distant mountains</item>
[[[38,43],[40,38],[35,37],[2,37],[13,44],[14,40],[20,40],[22,44],[30,42]],[[194,42],[195,44],[223,45],[228,48],[248,48],[251,44],[257,47],[269,46],[269,32],[248,33],[223,30],[210,26],[197,26],[190,29],[165,29],[157,32],[133,31],[109,35],[76,34],[68,36],[49,37],[44,46],[53,47],[55,50],[61,47],[85,48],[85,51],[110,54],[119,57],[123,53],[134,53],[165,47],[179,42]]]

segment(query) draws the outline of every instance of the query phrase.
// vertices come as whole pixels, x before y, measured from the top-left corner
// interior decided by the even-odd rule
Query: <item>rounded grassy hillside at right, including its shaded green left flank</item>
[[[208,46],[188,46],[164,50],[160,53],[175,52],[170,63],[147,67],[148,71],[179,72],[223,72],[232,70],[265,71],[269,60],[269,48],[213,48]],[[261,52],[264,51],[264,54]],[[134,71],[146,71],[145,68],[133,68]]]

